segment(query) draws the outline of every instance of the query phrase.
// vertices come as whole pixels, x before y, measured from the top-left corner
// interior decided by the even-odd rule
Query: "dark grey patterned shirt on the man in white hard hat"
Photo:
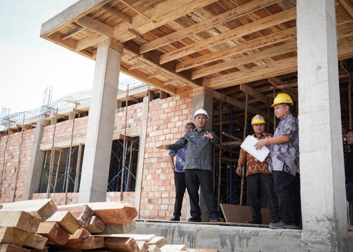
[[[186,159],[184,169],[202,169],[212,170],[211,166],[211,152],[212,144],[218,143],[219,139],[212,131],[208,131],[213,135],[213,139],[204,137],[207,135],[207,130],[202,129],[197,131],[195,128],[193,131],[188,131],[184,137],[180,139],[178,143],[170,144],[169,150],[180,150],[184,146],[188,145],[186,151]]]

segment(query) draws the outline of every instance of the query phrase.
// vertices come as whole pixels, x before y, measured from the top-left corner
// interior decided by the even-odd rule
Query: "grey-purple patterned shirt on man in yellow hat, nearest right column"
[[[270,144],[269,167],[271,171],[285,171],[295,176],[299,162],[299,127],[298,119],[292,114],[279,121],[273,137],[286,134],[290,137],[288,142]]]

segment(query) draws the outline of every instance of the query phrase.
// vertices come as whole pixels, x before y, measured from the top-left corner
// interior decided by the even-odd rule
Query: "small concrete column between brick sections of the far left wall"
[[[31,200],[33,193],[38,193],[40,178],[42,175],[43,161],[44,161],[44,151],[39,149],[40,141],[42,140],[44,127],[49,125],[50,121],[45,121],[39,119],[36,124],[34,137],[33,137],[33,147],[31,152],[31,160],[29,163],[27,182],[25,188],[25,194],[23,200]]]

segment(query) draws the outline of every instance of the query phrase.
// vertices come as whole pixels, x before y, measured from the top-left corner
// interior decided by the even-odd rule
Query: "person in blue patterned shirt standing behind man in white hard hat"
[[[185,133],[195,129],[195,124],[193,122],[188,122],[185,126]],[[180,141],[180,140],[178,140]],[[177,143],[178,143],[177,141]],[[186,190],[186,181],[185,181],[185,156],[186,156],[187,146],[178,151],[169,151],[168,161],[170,166],[174,170],[174,184],[175,184],[175,204],[174,204],[174,214],[171,221],[180,221],[183,198]],[[176,156],[176,161],[174,165],[174,156]]]

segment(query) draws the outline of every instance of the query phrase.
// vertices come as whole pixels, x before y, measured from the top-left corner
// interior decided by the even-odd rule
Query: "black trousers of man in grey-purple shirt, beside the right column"
[[[285,224],[295,224],[294,196],[291,188],[291,182],[294,177],[285,171],[273,171],[274,192],[278,198],[278,213]]]

